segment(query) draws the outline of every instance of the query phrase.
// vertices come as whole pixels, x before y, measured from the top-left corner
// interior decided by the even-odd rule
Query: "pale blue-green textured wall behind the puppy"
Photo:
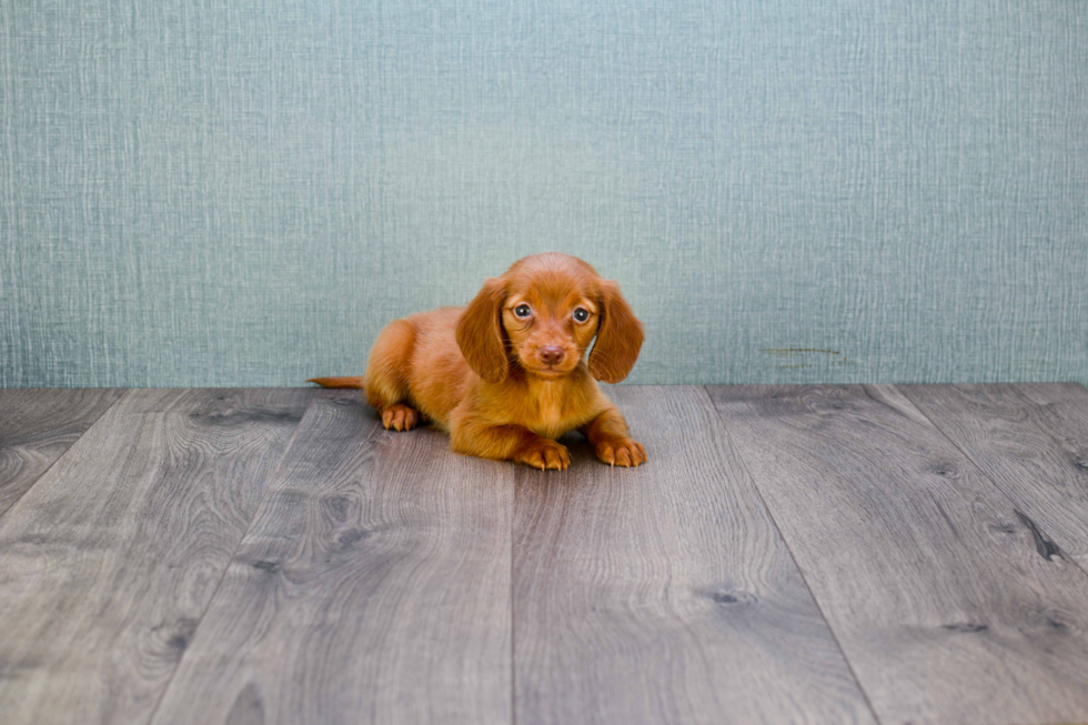
[[[0,161],[3,386],[357,373],[553,249],[632,382],[1088,382],[1081,1],[0,0]]]

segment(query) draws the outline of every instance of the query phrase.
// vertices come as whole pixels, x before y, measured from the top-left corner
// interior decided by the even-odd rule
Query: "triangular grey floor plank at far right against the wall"
[[[1059,551],[1088,570],[1088,391],[1080,385],[901,385]],[[1036,400],[1032,400],[1032,395]]]

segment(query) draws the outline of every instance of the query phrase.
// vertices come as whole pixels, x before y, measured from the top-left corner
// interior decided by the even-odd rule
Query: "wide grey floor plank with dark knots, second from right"
[[[1088,719],[1088,576],[901,393],[712,394],[883,722]]]

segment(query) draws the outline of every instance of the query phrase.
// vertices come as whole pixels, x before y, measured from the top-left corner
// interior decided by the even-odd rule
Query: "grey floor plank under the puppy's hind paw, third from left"
[[[513,466],[322,391],[155,723],[508,723]]]

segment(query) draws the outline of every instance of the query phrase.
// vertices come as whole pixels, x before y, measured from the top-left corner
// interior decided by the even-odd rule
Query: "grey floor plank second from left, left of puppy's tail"
[[[140,390],[0,520],[0,713],[147,722],[309,390]]]

